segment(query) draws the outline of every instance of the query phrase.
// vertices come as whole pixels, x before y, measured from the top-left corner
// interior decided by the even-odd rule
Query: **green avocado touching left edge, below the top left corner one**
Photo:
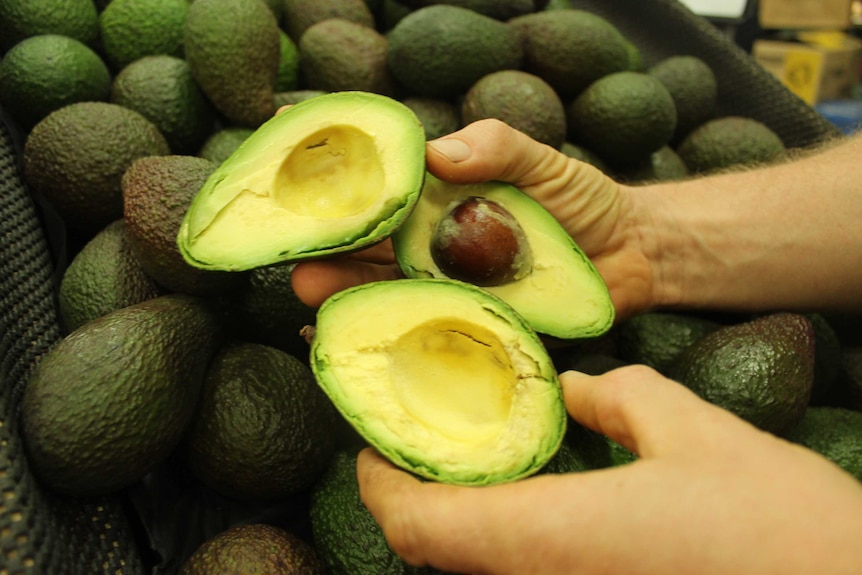
[[[0,60],[0,104],[25,132],[54,110],[107,100],[110,91],[111,74],[101,56],[67,36],[31,36]]]

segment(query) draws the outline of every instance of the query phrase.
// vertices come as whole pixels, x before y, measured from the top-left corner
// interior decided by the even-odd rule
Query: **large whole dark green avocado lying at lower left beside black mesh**
[[[219,316],[171,294],[93,320],[36,366],[21,401],[34,473],[57,492],[131,485],[178,445],[194,414]]]

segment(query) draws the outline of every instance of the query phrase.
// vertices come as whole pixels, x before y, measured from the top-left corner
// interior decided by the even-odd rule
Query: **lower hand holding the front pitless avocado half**
[[[570,414],[631,464],[490,487],[360,453],[361,496],[414,565],[480,574],[862,573],[862,486],[644,366],[561,375]]]

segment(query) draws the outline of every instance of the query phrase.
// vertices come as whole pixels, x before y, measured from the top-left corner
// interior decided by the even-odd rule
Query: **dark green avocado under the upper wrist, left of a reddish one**
[[[711,319],[690,313],[644,312],[619,325],[619,357],[667,375],[685,350],[719,327]]]

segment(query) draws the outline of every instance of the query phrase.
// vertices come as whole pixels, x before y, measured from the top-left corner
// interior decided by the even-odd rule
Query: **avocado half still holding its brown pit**
[[[452,184],[427,174],[392,241],[405,276],[480,286],[544,335],[584,339],[613,325],[613,302],[592,261],[541,204],[510,184]]]

